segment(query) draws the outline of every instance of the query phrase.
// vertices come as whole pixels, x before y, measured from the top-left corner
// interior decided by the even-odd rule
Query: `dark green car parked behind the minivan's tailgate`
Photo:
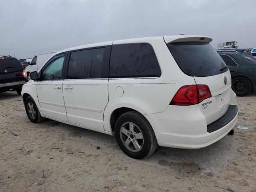
[[[256,90],[256,59],[243,53],[219,53],[232,76],[232,89],[237,96]]]

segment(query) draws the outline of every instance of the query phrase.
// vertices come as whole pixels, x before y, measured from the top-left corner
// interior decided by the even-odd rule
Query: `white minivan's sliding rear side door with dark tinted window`
[[[103,128],[108,104],[107,47],[88,48],[70,53],[63,95],[68,121],[90,128]]]

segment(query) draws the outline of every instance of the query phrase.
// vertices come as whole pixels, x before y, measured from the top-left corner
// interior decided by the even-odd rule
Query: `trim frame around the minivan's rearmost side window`
[[[122,44],[139,44],[139,43],[149,44],[152,47],[152,49],[154,51],[154,54],[156,56],[156,52],[154,50],[154,47],[149,42],[125,42],[125,43],[112,44],[112,46],[122,45]],[[111,50],[111,53],[112,53],[112,50]],[[111,54],[110,54],[110,58],[111,58]],[[110,66],[110,58],[109,58],[109,66]],[[158,62],[158,66],[160,68],[160,72],[161,72],[160,75],[145,75],[145,76],[140,76],[140,77],[138,77],[138,76],[116,76],[116,77],[112,77],[112,76],[109,75],[110,70],[108,70],[108,78],[109,79],[157,79],[157,78],[160,78],[162,76],[162,69],[161,69],[161,66],[159,64],[159,60],[158,60],[157,56],[156,56],[156,60]]]

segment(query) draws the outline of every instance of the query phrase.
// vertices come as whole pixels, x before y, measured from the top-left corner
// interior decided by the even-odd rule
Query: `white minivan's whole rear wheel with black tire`
[[[117,119],[115,135],[121,150],[135,159],[150,156],[158,145],[151,125],[136,111],[126,112]]]

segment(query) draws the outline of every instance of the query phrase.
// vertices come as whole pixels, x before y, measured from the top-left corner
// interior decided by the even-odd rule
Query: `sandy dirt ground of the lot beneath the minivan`
[[[248,130],[235,127],[234,136],[203,149],[158,147],[134,160],[112,136],[52,120],[33,124],[16,92],[0,93],[0,192],[255,192],[256,94],[238,97],[238,105],[236,126]]]

